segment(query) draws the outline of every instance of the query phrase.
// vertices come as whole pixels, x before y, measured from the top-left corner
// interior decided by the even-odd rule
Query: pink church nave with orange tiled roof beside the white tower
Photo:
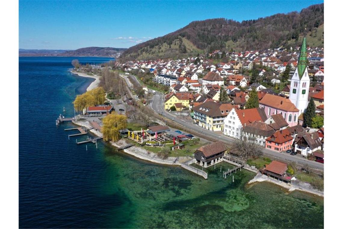
[[[299,110],[286,98],[281,96],[265,94],[259,102],[260,108],[263,108],[267,118],[274,114],[281,114],[289,126],[298,124]]]

